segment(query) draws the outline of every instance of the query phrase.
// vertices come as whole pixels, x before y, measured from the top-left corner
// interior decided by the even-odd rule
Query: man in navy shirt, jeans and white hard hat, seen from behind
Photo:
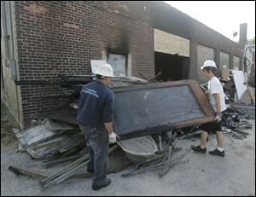
[[[108,142],[116,142],[113,132],[113,91],[108,88],[113,69],[109,64],[101,65],[96,71],[96,81],[84,85],[80,92],[77,120],[82,130],[90,161],[87,171],[94,173],[92,189],[107,187]]]

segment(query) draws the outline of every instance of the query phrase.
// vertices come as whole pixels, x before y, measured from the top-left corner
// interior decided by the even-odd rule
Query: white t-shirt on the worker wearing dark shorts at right
[[[216,105],[216,101],[214,99],[213,94],[218,93],[219,101],[220,101],[220,110],[221,112],[223,112],[226,109],[225,99],[224,99],[224,90],[223,90],[222,84],[220,84],[218,78],[216,78],[215,76],[208,81],[208,90],[209,90],[210,103],[212,105],[213,110],[217,112],[217,105]]]

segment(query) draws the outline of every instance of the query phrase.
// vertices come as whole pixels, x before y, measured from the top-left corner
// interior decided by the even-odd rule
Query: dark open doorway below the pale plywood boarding
[[[177,81],[189,78],[189,57],[154,52],[155,74],[162,81]]]

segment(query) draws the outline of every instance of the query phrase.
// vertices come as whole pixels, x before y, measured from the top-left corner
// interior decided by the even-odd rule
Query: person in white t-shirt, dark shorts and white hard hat
[[[214,73],[217,70],[214,61],[205,61],[204,65],[201,67],[203,75],[208,81],[208,92],[210,103],[212,109],[215,112],[214,122],[206,123],[201,125],[201,144],[197,147],[192,146],[192,150],[198,153],[205,154],[207,152],[206,144],[207,137],[210,132],[215,132],[218,141],[218,148],[213,151],[209,151],[209,154],[224,157],[224,136],[222,133],[222,114],[224,113],[225,100],[224,100],[224,90],[222,84],[219,82],[218,78],[215,77]]]

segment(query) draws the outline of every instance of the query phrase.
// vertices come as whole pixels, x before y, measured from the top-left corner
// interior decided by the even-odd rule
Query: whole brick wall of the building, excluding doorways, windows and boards
[[[106,52],[125,53],[133,76],[154,77],[154,29],[190,43],[189,78],[200,79],[198,45],[241,58],[241,46],[164,2],[15,1],[18,79],[56,79],[57,74],[90,73],[90,60]],[[199,58],[199,59],[198,59]],[[240,65],[241,65],[240,61]],[[45,96],[65,94],[59,86],[21,86],[26,126],[49,107],[66,101]]]

